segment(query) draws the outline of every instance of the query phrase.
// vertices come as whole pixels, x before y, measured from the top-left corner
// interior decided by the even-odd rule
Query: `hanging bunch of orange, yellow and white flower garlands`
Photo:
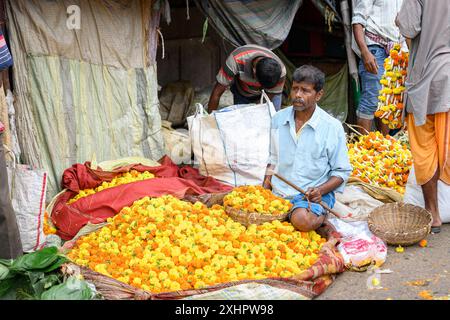
[[[402,127],[402,112],[404,109],[404,92],[406,69],[409,53],[401,50],[400,44],[395,44],[389,57],[384,61],[384,74],[380,80],[382,89],[378,96],[378,108],[375,116],[380,118],[390,129]]]

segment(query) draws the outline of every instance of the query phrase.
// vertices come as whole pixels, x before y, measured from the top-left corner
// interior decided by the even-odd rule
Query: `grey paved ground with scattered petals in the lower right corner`
[[[372,273],[347,271],[337,276],[317,300],[421,300],[419,292],[425,290],[434,298],[450,299],[450,225],[444,225],[439,234],[429,235],[427,241],[428,247],[405,247],[403,253],[389,247],[381,269],[393,272],[380,275],[382,289],[368,289],[367,279]]]

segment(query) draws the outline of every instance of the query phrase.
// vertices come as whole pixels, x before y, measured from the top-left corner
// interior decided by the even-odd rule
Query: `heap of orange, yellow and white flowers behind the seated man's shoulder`
[[[380,132],[370,132],[348,144],[352,176],[378,187],[404,194],[412,165],[411,151],[405,144]]]

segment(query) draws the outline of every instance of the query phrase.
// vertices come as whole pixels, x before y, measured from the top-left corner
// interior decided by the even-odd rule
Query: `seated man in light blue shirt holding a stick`
[[[292,106],[272,119],[264,187],[292,202],[289,219],[303,232],[322,225],[326,212],[319,203],[324,201],[332,208],[334,193],[343,191],[352,171],[342,124],[317,105],[324,83],[324,73],[313,66],[295,70]],[[273,172],[305,190],[306,195],[272,176]]]

